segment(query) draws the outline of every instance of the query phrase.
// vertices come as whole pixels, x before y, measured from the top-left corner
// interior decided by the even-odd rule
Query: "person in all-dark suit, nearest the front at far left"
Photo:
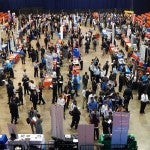
[[[15,99],[11,99],[11,102],[9,104],[10,114],[11,114],[11,123],[17,124],[17,118],[18,118],[18,105],[15,102]]]

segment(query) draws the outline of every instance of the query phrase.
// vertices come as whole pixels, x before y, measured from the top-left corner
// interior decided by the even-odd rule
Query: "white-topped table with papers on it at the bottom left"
[[[22,146],[25,150],[28,150],[30,145],[37,145],[37,148],[43,148],[41,147],[41,144],[45,144],[43,134],[18,134],[18,138],[16,140],[8,140],[7,148],[9,150],[14,150],[14,147],[17,145]]]

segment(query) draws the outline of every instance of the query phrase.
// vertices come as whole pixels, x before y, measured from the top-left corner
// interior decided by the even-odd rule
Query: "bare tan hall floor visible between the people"
[[[89,30],[89,28],[82,27],[82,32],[85,33]],[[97,31],[94,31],[96,33]],[[54,40],[52,41],[55,43],[57,40],[57,37],[54,37]],[[84,74],[85,71],[88,71],[88,67],[90,65],[91,59],[97,56],[100,60],[100,63],[103,65],[106,60],[110,60],[109,55],[102,56],[102,52],[100,49],[100,43],[97,48],[97,51],[94,52],[92,49],[90,50],[90,54],[84,54],[84,47],[80,49],[81,53],[83,53],[83,60],[84,60],[84,69],[81,71],[81,75]],[[33,47],[35,48],[35,41],[32,41]],[[43,35],[42,39],[40,40],[40,44],[43,45]],[[92,47],[92,46],[91,46]],[[67,60],[64,60],[64,65],[62,68],[62,74],[64,75],[65,80],[67,79],[66,74],[68,73],[68,63]],[[33,65],[31,63],[31,60],[26,57],[26,64],[22,65],[21,61],[19,61],[17,64],[14,65],[14,73],[15,73],[15,79],[14,85],[17,89],[17,83],[21,81],[22,79],[22,73],[23,70],[27,70],[27,74],[31,80],[34,80],[36,83],[38,83],[40,80],[39,78],[34,78],[33,76]],[[64,83],[65,85],[65,83]],[[90,86],[90,84],[88,85]],[[129,133],[132,133],[135,135],[136,140],[138,142],[138,149],[139,150],[150,150],[150,144],[149,144],[149,137],[150,137],[150,105],[146,107],[145,114],[141,115],[139,113],[140,109],[140,102],[137,100],[137,93],[136,91],[134,93],[134,99],[130,101],[129,104],[129,110],[130,110],[130,128]],[[85,109],[82,109],[81,102],[82,102],[82,94],[79,93],[80,96],[77,97],[78,106],[81,110],[81,120],[80,123],[89,123],[89,117],[88,113]],[[51,100],[52,100],[52,91],[49,89],[44,89],[43,91],[43,97],[46,101],[46,105],[38,105],[38,111],[41,114],[43,118],[43,132],[44,136],[46,138],[46,141],[51,139],[51,123],[50,123],[50,106],[51,106]],[[9,107],[7,104],[7,93],[6,93],[6,87],[2,86],[0,87],[0,133],[6,133],[8,134],[8,128],[7,123],[10,123],[10,112]],[[26,123],[27,118],[27,112],[32,106],[31,101],[29,100],[29,96],[26,95],[24,97],[24,105],[19,107],[19,120],[18,124],[16,125],[18,133],[32,133],[30,126]],[[70,129],[70,123],[71,123],[71,116],[68,113],[68,110],[66,110],[66,119],[64,120],[64,130],[65,134],[68,133],[76,133],[76,130]],[[100,125],[101,128],[101,125]],[[100,133],[102,130],[100,130]]]

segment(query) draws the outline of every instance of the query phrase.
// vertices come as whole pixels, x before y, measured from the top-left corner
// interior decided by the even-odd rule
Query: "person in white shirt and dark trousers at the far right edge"
[[[145,107],[148,102],[149,102],[148,95],[146,91],[144,91],[143,94],[141,95],[140,114],[145,114]]]

